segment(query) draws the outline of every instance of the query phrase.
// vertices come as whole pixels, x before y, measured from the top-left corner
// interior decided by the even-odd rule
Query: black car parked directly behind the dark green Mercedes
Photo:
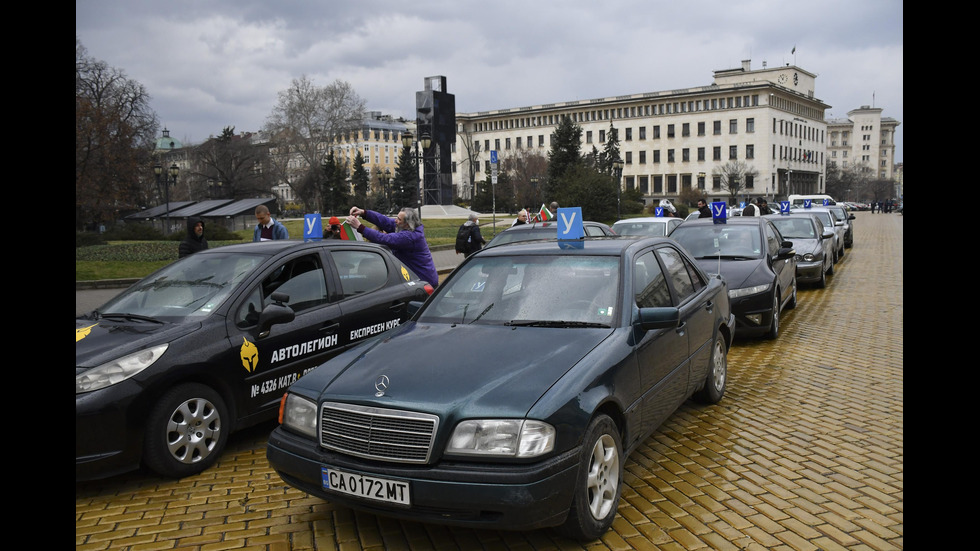
[[[796,250],[767,218],[738,216],[727,223],[686,220],[670,238],[708,273],[721,273],[739,337],[779,336],[779,314],[796,307]]]

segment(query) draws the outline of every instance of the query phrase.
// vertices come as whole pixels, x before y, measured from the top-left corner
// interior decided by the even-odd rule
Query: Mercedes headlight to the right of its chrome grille
[[[531,419],[475,419],[456,425],[447,454],[536,457],[555,448],[555,427]]]

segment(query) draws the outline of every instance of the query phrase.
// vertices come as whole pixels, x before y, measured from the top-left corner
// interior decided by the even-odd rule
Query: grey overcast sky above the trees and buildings
[[[89,56],[143,84],[172,137],[262,128],[306,75],[351,83],[370,111],[414,119],[444,75],[471,113],[673,90],[713,71],[796,64],[846,118],[862,105],[902,124],[901,0],[75,0]],[[793,48],[796,53],[792,54]]]

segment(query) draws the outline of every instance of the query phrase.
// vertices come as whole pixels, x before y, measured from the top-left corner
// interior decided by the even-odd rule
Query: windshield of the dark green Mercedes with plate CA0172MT
[[[618,256],[486,256],[461,265],[420,322],[611,327],[619,312]]]

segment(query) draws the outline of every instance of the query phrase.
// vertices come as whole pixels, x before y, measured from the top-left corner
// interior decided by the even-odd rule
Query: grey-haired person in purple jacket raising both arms
[[[359,216],[363,216],[381,231],[361,224]],[[398,211],[397,218],[392,219],[373,210],[351,207],[347,222],[368,241],[391,249],[395,258],[432,285],[433,289],[439,286],[439,273],[425,240],[425,229],[415,209],[405,207]]]

